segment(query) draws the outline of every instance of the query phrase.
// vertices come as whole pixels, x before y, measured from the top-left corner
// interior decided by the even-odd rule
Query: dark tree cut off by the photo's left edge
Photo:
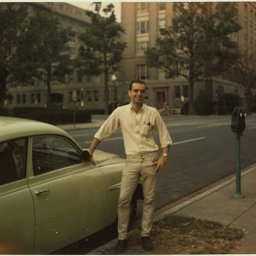
[[[16,48],[19,31],[27,17],[27,9],[24,5],[15,3],[0,3],[0,16],[0,105],[2,105],[6,99],[8,58],[12,49]]]

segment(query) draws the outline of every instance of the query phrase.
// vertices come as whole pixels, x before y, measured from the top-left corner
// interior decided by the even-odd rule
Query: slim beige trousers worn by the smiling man
[[[142,177],[144,188],[142,237],[150,236],[155,211],[156,165],[153,163],[157,160],[158,155],[156,152],[127,155],[118,203],[119,240],[125,240],[127,237],[131,199],[140,177]]]

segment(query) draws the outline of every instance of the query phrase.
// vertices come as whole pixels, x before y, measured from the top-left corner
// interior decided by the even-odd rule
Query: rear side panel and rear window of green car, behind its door
[[[0,143],[0,254],[34,251],[34,207],[27,187],[27,138]]]

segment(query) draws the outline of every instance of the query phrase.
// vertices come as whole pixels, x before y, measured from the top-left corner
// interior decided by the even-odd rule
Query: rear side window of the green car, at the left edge
[[[0,143],[0,186],[26,177],[27,139]]]

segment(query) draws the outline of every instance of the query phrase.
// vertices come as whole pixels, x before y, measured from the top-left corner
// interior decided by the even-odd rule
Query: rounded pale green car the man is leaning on
[[[56,126],[0,117],[0,254],[57,251],[117,219],[124,159],[89,158]]]

